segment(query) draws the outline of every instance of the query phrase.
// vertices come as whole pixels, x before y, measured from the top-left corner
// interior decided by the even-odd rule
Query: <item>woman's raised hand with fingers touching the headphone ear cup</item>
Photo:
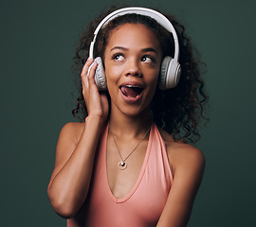
[[[92,58],[85,62],[81,73],[82,95],[85,100],[88,116],[100,117],[103,122],[109,112],[109,105],[106,95],[100,94],[95,84],[96,68],[97,62],[94,62]]]

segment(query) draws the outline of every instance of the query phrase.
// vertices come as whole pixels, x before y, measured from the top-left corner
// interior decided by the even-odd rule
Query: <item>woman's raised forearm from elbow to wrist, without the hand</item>
[[[100,133],[101,120],[87,117],[79,143],[49,183],[49,199],[64,218],[73,216],[86,199]]]

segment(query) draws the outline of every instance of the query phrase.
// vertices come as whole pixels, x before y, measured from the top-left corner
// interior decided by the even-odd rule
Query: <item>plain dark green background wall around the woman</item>
[[[55,146],[76,94],[70,76],[82,28],[120,1],[1,1],[1,226],[65,226],[47,199]],[[189,227],[256,226],[255,3],[129,1],[187,27],[208,65],[207,159]]]

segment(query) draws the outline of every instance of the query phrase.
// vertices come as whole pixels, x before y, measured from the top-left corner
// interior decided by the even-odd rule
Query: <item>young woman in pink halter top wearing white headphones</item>
[[[101,20],[77,49],[84,122],[60,133],[49,199],[69,227],[186,226],[205,166],[187,143],[206,100],[200,61],[171,16],[129,8]]]

